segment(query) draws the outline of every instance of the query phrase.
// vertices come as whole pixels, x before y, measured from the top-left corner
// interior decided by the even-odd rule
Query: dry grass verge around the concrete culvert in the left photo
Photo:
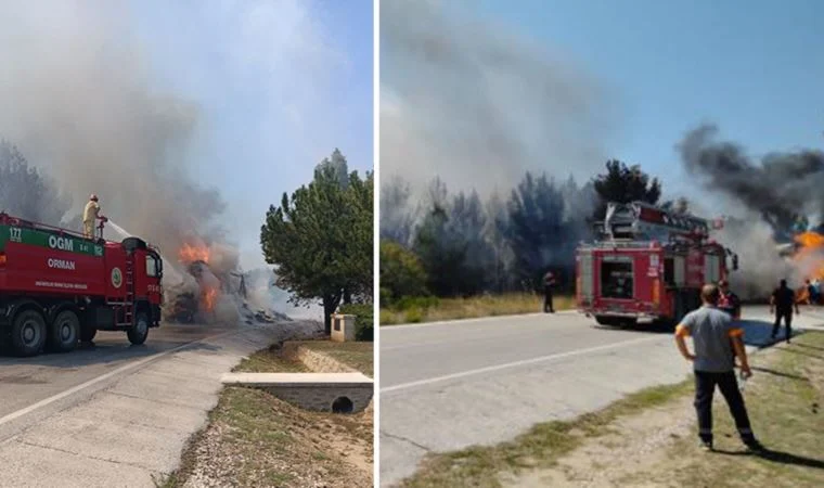
[[[372,343],[305,345],[310,343],[314,350],[372,372]],[[276,346],[259,350],[233,371],[309,372],[280,352]],[[189,440],[178,471],[155,485],[365,488],[373,486],[373,453],[371,412],[310,412],[258,389],[231,386],[221,391],[207,426]]]

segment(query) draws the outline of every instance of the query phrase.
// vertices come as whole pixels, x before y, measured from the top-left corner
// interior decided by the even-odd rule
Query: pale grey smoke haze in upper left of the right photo
[[[382,171],[481,194],[526,170],[591,177],[606,160],[605,88],[511,27],[468,8],[453,17],[456,5],[382,3]]]

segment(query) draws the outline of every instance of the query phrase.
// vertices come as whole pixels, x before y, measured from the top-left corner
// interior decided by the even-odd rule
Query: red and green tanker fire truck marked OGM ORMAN
[[[69,351],[98,331],[143,344],[159,326],[163,260],[138,237],[82,235],[0,214],[0,344]]]

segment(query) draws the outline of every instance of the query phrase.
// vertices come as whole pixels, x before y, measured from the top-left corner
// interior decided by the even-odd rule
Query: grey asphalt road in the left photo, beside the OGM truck
[[[163,324],[143,346],[99,333],[95,346],[0,357],[0,487],[152,487],[217,402],[243,357],[318,325]]]

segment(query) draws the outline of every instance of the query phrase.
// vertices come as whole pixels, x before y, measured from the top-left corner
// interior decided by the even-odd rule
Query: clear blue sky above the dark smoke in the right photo
[[[824,147],[824,2],[479,2],[608,85],[620,114],[611,154],[668,187],[681,177],[673,144],[701,121],[754,155]]]

